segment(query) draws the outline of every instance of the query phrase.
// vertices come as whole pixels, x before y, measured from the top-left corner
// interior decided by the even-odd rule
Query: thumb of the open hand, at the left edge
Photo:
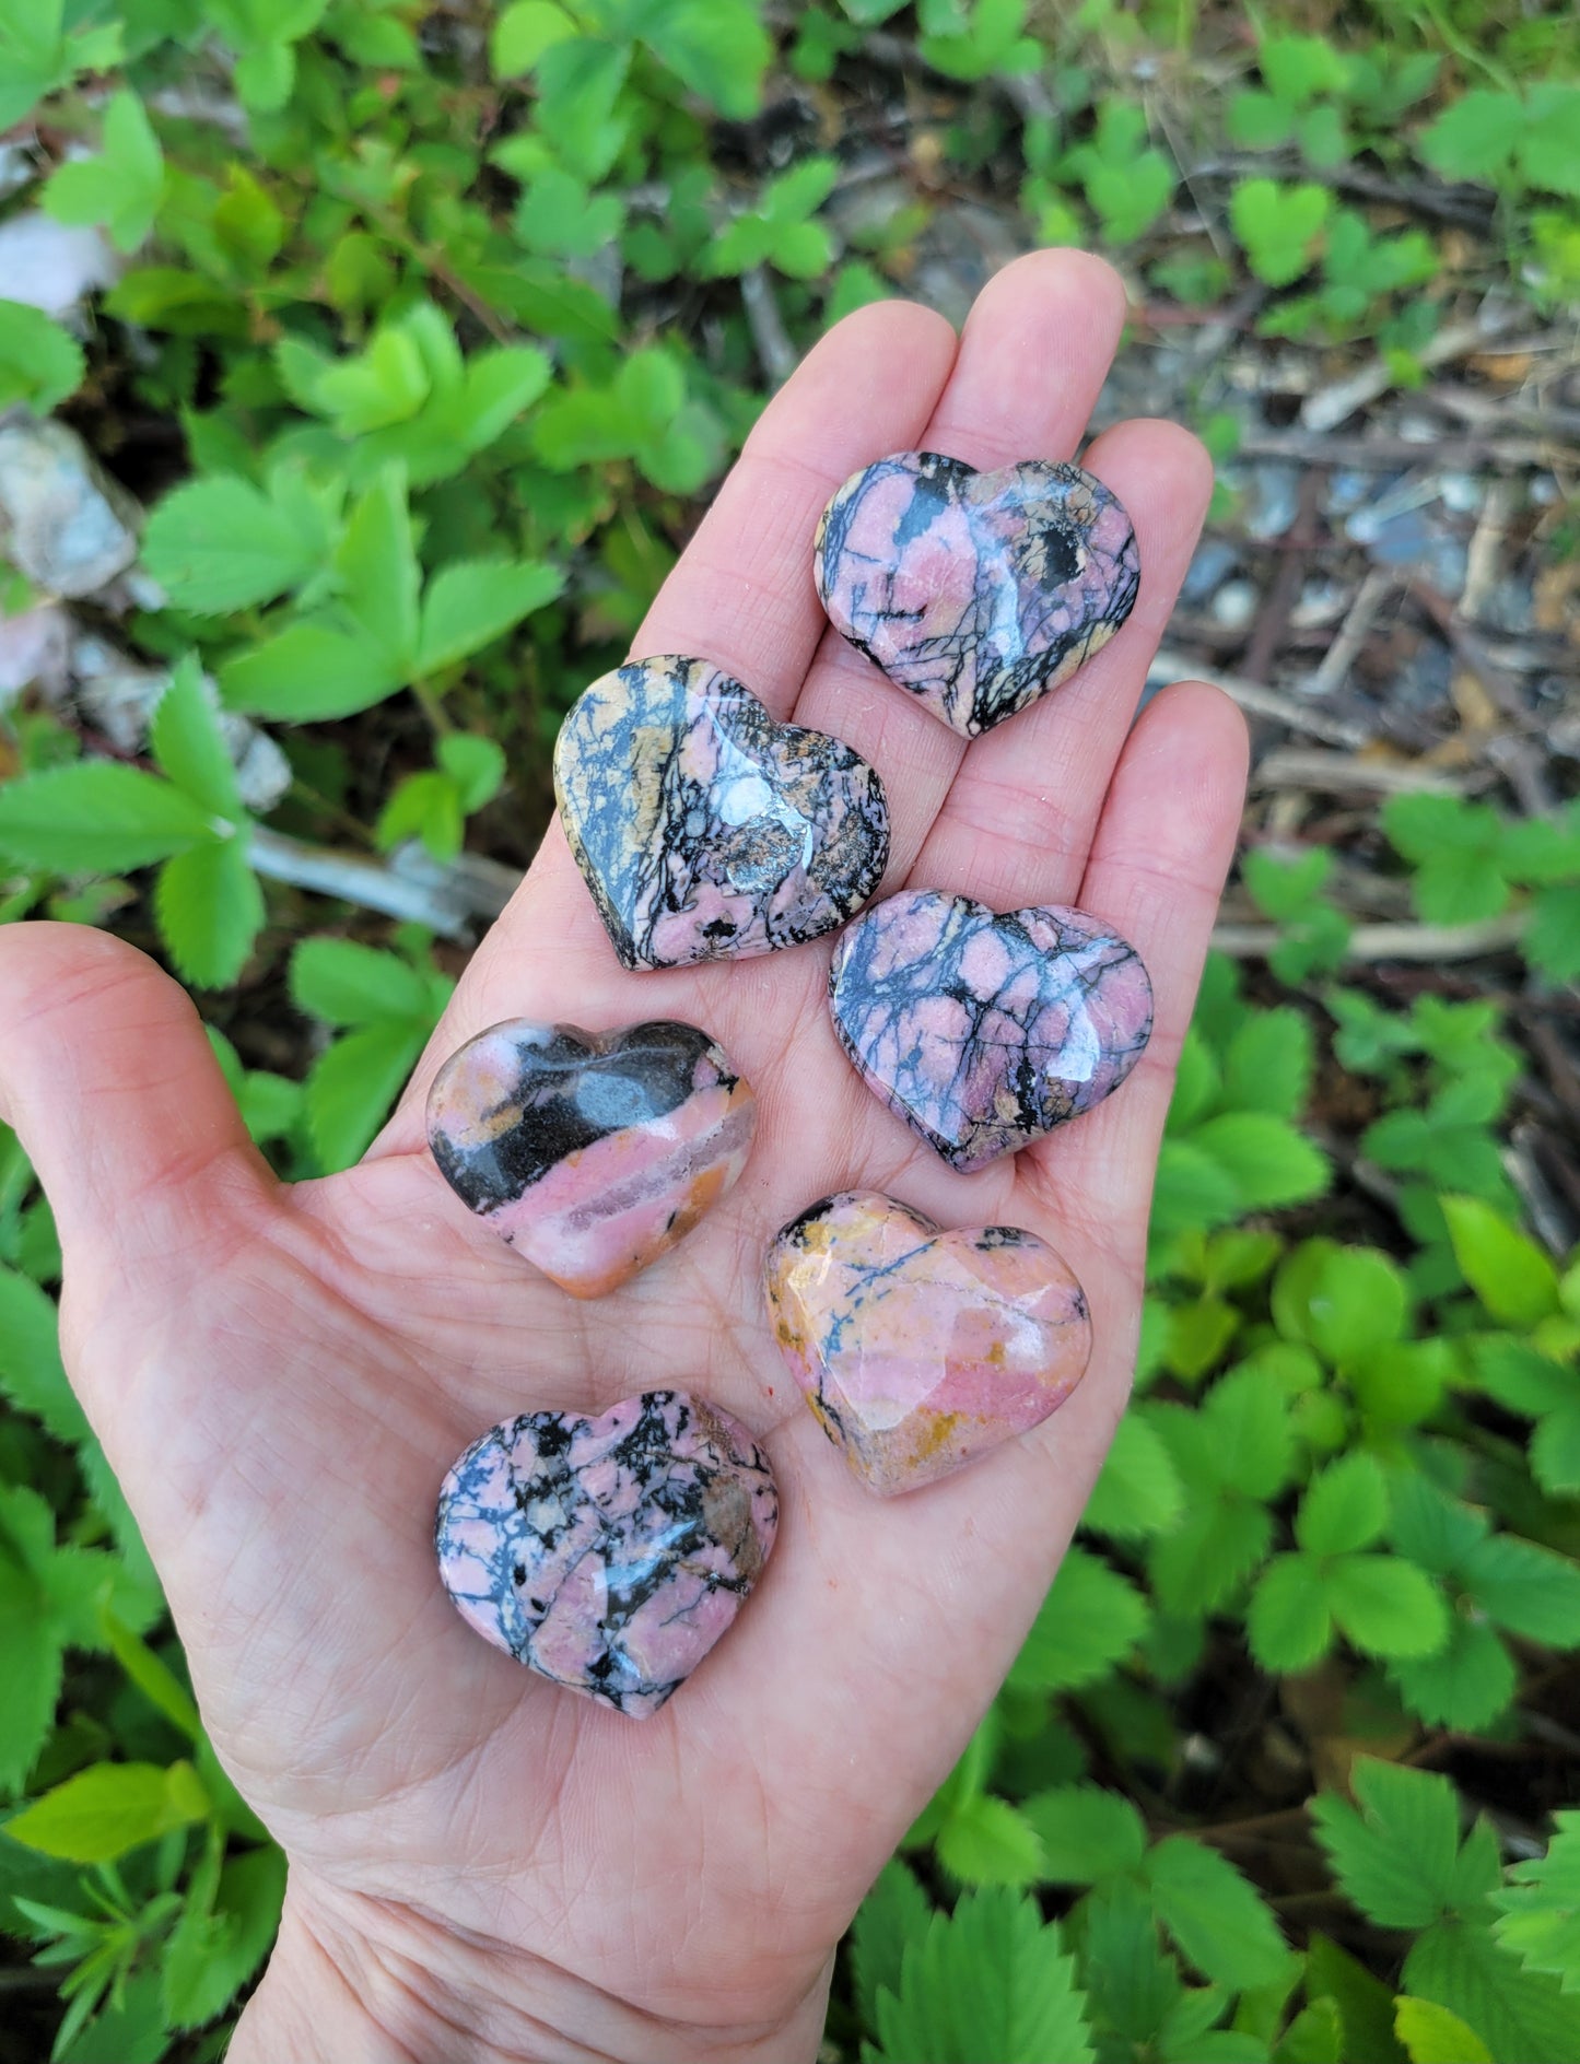
[[[190,1271],[273,1174],[190,997],[87,925],[0,927],[0,1119],[56,1214],[66,1286]]]

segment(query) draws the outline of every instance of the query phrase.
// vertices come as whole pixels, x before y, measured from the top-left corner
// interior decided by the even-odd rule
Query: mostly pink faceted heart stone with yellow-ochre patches
[[[1093,1325],[1053,1249],[940,1228],[892,1197],[824,1197],[768,1249],[775,1337],[822,1430],[880,1496],[1039,1426],[1080,1383]]]

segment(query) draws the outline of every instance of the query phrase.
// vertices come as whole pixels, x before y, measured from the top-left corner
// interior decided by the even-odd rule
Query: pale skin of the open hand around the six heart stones
[[[558,828],[368,1158],[295,1189],[246,1139],[192,1003],[153,962],[85,927],[0,931],[0,1115],[58,1214],[72,1383],[215,1748],[289,1858],[235,2064],[816,2054],[834,1944],[993,1697],[1126,1406],[1157,1143],[1245,733],[1204,683],[1134,722],[1210,487],[1169,423],[1124,423],[1084,458],[1140,537],[1130,623],[969,749],[828,632],[812,533],[886,452],[1076,454],[1121,322],[1117,277],[1072,252],[1000,272],[960,338],[903,303],[849,318],[762,417],[634,646],[702,654],[855,745],[888,784],[884,890],[1074,902],[1140,947],[1150,1049],[1068,1131],[954,1174],[841,1057],[828,941],[626,974]],[[682,1018],[758,1090],[735,1193],[597,1302],[504,1249],[425,1152],[440,1061],[518,1015]],[[839,1189],[1029,1226],[1091,1298],[1097,1346],[1070,1404],[913,1496],[876,1501],[847,1474],[762,1313],[768,1238]],[[727,1639],[632,1721],[469,1633],[432,1517],[444,1468],[492,1422],[665,1385],[766,1445],[783,1521]]]

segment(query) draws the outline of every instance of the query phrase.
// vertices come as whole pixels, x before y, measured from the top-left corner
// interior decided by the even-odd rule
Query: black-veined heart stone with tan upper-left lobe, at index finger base
[[[882,782],[700,658],[605,673],[554,749],[570,850],[628,968],[770,954],[843,925],[888,859]]]

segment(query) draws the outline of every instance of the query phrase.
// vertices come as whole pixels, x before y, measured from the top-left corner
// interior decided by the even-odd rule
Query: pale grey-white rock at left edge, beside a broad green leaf
[[[93,594],[136,557],[136,502],[74,429],[0,425],[0,551],[45,594]]]

